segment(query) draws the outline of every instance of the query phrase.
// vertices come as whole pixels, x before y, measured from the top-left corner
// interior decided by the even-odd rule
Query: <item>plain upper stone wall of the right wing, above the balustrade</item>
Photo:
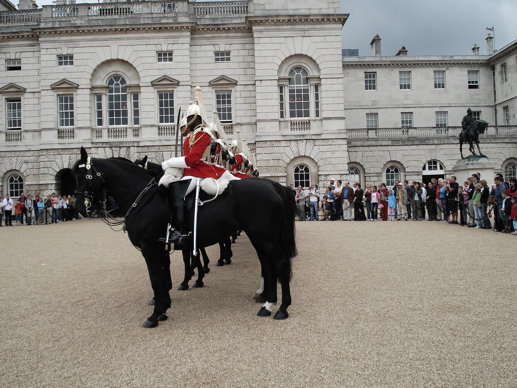
[[[448,125],[459,126],[469,107],[481,111],[481,118],[494,124],[492,71],[488,64],[480,61],[477,65],[453,66],[442,57],[405,57],[401,61],[383,58],[383,66],[371,58],[343,59],[347,129],[365,128],[366,113],[378,113],[379,128],[400,128],[401,112],[413,112],[414,127],[434,127],[436,111],[447,111]],[[422,61],[436,64],[424,65]],[[355,66],[357,63],[361,65]],[[445,70],[445,89],[434,88],[435,70]],[[468,70],[479,70],[478,89],[468,88]],[[411,72],[411,89],[400,89],[400,71]],[[364,72],[376,72],[376,90],[365,90]]]

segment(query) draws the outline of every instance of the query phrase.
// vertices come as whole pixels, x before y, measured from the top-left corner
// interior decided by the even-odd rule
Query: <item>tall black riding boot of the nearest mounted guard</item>
[[[165,244],[165,249],[170,250],[171,244],[187,244],[188,234],[181,231],[186,228],[185,222],[185,193],[190,185],[190,180],[178,181],[169,184],[169,206],[171,207],[171,220],[165,237],[158,240]]]

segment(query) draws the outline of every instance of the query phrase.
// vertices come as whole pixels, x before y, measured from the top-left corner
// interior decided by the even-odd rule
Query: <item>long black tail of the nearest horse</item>
[[[279,193],[283,201],[284,214],[282,217],[282,227],[280,228],[279,244],[282,249],[284,258],[278,264],[280,272],[286,272],[288,280],[292,276],[292,262],[291,259],[298,255],[296,249],[296,202],[294,200],[294,191],[288,187],[282,186],[279,183],[275,184],[275,189]]]

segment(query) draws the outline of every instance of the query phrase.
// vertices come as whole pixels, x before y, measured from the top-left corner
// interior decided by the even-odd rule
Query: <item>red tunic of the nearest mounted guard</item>
[[[210,143],[210,136],[203,130],[192,132],[187,136],[183,143],[183,155],[185,155],[185,164],[189,167],[183,171],[183,176],[217,179],[226,171],[221,166],[211,165],[201,160]]]

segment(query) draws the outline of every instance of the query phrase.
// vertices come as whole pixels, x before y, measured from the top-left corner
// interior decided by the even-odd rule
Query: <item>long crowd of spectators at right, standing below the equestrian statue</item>
[[[455,176],[432,178],[421,182],[395,181],[392,188],[385,183],[359,182],[350,187],[348,181],[331,180],[323,190],[311,183],[308,190],[295,191],[299,221],[437,221],[467,228],[491,229],[517,234],[517,180],[504,182],[496,174],[489,185],[479,173],[463,184]],[[493,220],[493,225],[492,225]]]

